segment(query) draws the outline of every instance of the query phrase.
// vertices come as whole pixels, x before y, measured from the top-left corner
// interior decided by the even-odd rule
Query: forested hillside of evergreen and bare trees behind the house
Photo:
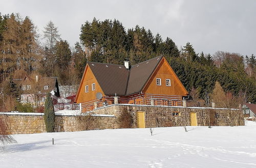
[[[61,39],[51,21],[44,27],[44,35],[38,36],[29,17],[1,15],[0,81],[40,74],[58,76],[60,85],[77,85],[87,61],[123,64],[129,59],[137,64],[164,55],[189,92],[196,91],[202,98],[219,81],[225,92],[246,91],[248,101],[256,103],[253,54],[223,52],[218,48],[212,55],[196,53],[189,42],[179,49],[171,37],[162,39],[160,34],[154,35],[140,25],[127,29],[120,21],[110,19],[84,22],[79,42],[71,44],[73,49],[66,40]]]

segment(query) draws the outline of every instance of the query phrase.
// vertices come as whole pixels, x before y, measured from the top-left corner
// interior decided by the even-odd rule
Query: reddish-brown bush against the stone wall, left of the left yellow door
[[[117,118],[117,122],[120,128],[132,128],[133,117],[131,112],[123,107],[120,116]]]

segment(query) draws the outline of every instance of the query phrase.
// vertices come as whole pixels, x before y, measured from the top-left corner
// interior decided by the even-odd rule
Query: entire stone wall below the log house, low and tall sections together
[[[92,116],[55,116],[55,132],[120,128],[118,119],[126,108],[132,117],[132,128],[137,128],[137,111],[145,113],[145,127],[190,125],[190,113],[197,114],[197,125],[208,126],[208,111],[203,107],[167,107],[113,104],[91,111]],[[175,114],[175,116],[173,115]],[[98,116],[97,116],[98,115]],[[100,115],[100,116],[99,116]],[[105,116],[104,116],[105,115]],[[108,116],[112,115],[112,116]],[[44,114],[0,113],[10,134],[46,132]],[[242,110],[210,108],[211,126],[244,125]]]

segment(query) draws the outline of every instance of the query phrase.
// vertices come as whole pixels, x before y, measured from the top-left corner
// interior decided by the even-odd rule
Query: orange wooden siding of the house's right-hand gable
[[[156,85],[156,78],[161,78],[161,86]],[[170,79],[170,86],[166,86],[166,79]],[[147,94],[178,96],[186,96],[188,94],[181,81],[164,58],[159,63],[150,80],[147,81],[142,92]]]

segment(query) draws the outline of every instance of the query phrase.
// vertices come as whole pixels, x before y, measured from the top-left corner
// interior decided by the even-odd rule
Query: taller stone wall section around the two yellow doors
[[[182,106],[149,106],[149,105],[125,105],[114,104],[93,110],[95,114],[120,116],[123,108],[127,108],[133,117],[133,127],[137,128],[137,111],[145,112],[145,127],[166,127],[190,125],[190,113],[197,114],[197,125],[208,126],[208,110],[204,107]],[[244,125],[242,110],[209,108],[211,126],[238,126]],[[174,116],[173,113],[178,113]],[[185,122],[186,121],[186,122]]]

